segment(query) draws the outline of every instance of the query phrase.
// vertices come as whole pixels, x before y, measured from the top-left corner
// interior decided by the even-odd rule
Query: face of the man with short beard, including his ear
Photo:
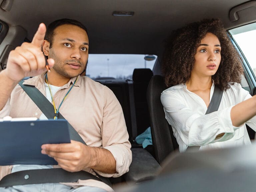
[[[72,78],[80,75],[88,60],[89,40],[85,30],[65,24],[54,30],[49,58],[53,58],[54,71],[59,75]]]

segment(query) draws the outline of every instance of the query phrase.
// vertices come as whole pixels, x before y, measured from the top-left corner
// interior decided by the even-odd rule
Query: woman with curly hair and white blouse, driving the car
[[[218,19],[205,19],[174,31],[162,71],[169,87],[161,94],[165,117],[180,152],[250,144],[245,122],[255,130],[256,97],[239,84],[240,57]],[[205,115],[214,87],[223,91],[218,111]]]

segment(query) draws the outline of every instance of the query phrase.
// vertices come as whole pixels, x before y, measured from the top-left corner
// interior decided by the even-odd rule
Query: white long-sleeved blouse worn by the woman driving
[[[213,91],[214,84],[211,87],[210,100]],[[230,117],[231,108],[249,98],[249,92],[235,83],[223,92],[219,110],[205,115],[205,102],[197,94],[189,91],[185,84],[170,87],[161,94],[165,118],[172,126],[180,152],[185,151],[188,146],[201,146],[200,150],[203,150],[250,144],[245,124],[235,127]],[[256,130],[256,117],[246,124]],[[215,140],[220,133],[225,134]]]

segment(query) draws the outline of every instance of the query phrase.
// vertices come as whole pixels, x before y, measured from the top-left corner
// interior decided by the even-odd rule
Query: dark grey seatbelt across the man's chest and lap
[[[23,80],[19,82],[19,85],[27,93],[27,95],[33,100],[38,108],[44,113],[48,119],[52,119],[54,116],[53,105],[48,99],[35,87],[31,85],[23,85]],[[51,113],[52,111],[53,113]],[[65,119],[60,113],[59,119]],[[76,130],[68,123],[70,139],[82,142],[86,145],[85,141],[80,137]],[[96,173],[96,172],[95,172]],[[97,174],[97,173],[96,173]],[[14,185],[28,185],[28,184],[39,184],[39,183],[64,183],[64,182],[77,182],[79,179],[94,179],[102,181],[107,185],[111,186],[108,178],[102,177],[97,174],[95,175],[86,171],[69,172],[61,168],[53,169],[33,169],[18,171],[6,175],[0,181],[0,187],[10,187]]]

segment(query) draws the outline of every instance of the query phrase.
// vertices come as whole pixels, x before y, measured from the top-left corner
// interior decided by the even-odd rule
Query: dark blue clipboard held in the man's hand
[[[64,119],[0,122],[0,165],[57,165],[41,154],[43,144],[70,143]]]

